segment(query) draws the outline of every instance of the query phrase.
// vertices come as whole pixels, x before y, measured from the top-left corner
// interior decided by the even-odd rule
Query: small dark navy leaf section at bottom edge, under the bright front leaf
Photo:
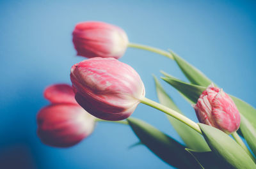
[[[197,152],[191,149],[186,149],[186,151],[188,151],[204,169],[232,169],[231,165],[223,161],[219,156],[216,156],[212,151]]]

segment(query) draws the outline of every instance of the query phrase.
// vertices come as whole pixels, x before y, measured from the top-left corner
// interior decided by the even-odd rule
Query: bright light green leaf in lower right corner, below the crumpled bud
[[[228,164],[237,169],[256,168],[253,160],[230,136],[220,129],[199,123],[206,142],[214,154],[220,156]]]

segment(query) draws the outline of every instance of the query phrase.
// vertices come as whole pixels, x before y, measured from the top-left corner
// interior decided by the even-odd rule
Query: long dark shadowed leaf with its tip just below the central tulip
[[[147,122],[129,117],[127,119],[134,133],[156,156],[177,168],[198,168],[198,163],[185,150],[186,147],[165,135]]]

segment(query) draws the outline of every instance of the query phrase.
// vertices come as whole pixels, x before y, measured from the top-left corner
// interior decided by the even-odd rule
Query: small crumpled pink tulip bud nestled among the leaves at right
[[[234,101],[214,85],[209,85],[202,92],[193,107],[199,122],[218,128],[227,134],[237,131],[240,126],[240,114]]]

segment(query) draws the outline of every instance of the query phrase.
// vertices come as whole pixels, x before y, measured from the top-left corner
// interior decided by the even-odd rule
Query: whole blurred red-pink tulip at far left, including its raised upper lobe
[[[44,96],[52,105],[42,108],[36,117],[37,133],[43,143],[70,147],[92,133],[95,117],[76,103],[70,85],[51,85],[45,89]]]

